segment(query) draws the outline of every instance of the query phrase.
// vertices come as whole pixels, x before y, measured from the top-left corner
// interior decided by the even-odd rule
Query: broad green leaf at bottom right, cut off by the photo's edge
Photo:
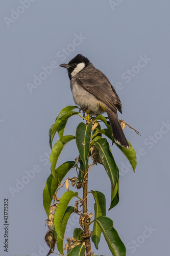
[[[108,217],[98,217],[95,221],[99,224],[105,240],[113,256],[126,256],[126,248],[113,227],[113,221]]]

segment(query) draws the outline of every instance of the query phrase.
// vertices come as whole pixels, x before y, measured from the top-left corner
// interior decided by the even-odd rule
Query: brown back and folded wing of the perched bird
[[[78,84],[103,101],[112,111],[118,110],[122,113],[122,103],[108,78],[100,70],[90,66],[78,73],[76,77]]]

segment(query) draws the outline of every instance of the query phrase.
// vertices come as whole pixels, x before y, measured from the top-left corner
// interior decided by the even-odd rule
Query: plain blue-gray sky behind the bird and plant
[[[64,106],[74,105],[67,72],[58,65],[78,53],[107,75],[123,104],[119,118],[141,134],[125,129],[138,155],[135,174],[111,147],[120,172],[120,202],[107,216],[128,256],[168,255],[169,8],[167,0],[1,1],[1,255],[47,253],[42,191],[50,175],[48,130]],[[75,135],[80,121],[71,117],[65,134]],[[70,146],[58,165],[77,157],[75,142]],[[33,168],[35,177],[28,179]],[[18,180],[27,184],[11,193]],[[110,181],[102,166],[89,174],[91,189],[105,193],[108,209]],[[8,252],[2,245],[6,198]],[[92,198],[89,203],[92,210]],[[67,236],[76,226],[78,220],[71,217]],[[111,255],[103,237],[99,251],[93,250]]]

